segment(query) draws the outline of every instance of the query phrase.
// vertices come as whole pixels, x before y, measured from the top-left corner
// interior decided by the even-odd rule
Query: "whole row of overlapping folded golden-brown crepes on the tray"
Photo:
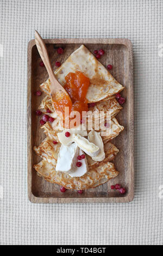
[[[66,83],[65,76],[69,72],[81,71],[90,78],[90,86],[87,91],[86,98],[89,103],[96,102],[95,106],[89,108],[89,111],[110,111],[111,113],[111,129],[108,135],[102,136],[104,143],[105,159],[96,162],[86,155],[89,170],[83,176],[71,177],[67,173],[55,170],[57,164],[58,153],[61,147],[57,133],[63,130],[60,125],[60,118],[54,111],[50,87],[51,82],[48,80],[40,85],[41,90],[46,94],[39,106],[42,113],[46,113],[49,109],[52,113],[48,115],[55,118],[53,123],[47,123],[41,126],[44,130],[46,138],[38,147],[34,147],[34,151],[42,158],[42,161],[35,164],[34,168],[43,178],[49,182],[59,184],[67,189],[84,190],[87,188],[97,187],[104,184],[109,179],[115,178],[118,171],[115,169],[114,163],[111,163],[118,153],[118,149],[110,140],[118,136],[124,127],[118,124],[115,118],[116,114],[121,111],[122,107],[116,100],[115,94],[123,90],[123,86],[111,76],[108,70],[98,62],[93,54],[82,45],[74,51],[70,57],[55,71],[55,76],[62,86]],[[105,117],[106,118],[106,117]],[[95,125],[95,119],[93,125]],[[93,128],[93,127],[92,127]],[[102,132],[99,130],[98,132]],[[58,142],[53,144],[53,141]]]

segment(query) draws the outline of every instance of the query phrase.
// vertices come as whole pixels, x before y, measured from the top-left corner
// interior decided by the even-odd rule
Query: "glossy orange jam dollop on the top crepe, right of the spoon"
[[[82,111],[88,111],[86,94],[90,80],[80,71],[76,71],[75,73],[70,72],[65,77],[65,80],[66,84],[64,88],[72,100],[71,111],[78,111],[80,113],[80,119],[82,119]]]

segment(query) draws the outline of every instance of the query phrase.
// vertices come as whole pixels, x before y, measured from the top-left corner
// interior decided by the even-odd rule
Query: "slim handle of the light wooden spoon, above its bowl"
[[[57,80],[57,78],[54,75],[51,62],[49,60],[45,42],[43,41],[43,39],[41,38],[41,35],[36,30],[35,30],[35,42],[36,42],[37,50],[40,53],[41,59],[44,65],[46,66],[51,82],[52,80]]]

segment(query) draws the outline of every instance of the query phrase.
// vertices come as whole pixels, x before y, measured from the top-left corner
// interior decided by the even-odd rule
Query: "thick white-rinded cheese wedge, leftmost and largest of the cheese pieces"
[[[55,169],[60,172],[69,172],[76,167],[78,155],[79,147],[76,143],[72,143],[69,146],[62,144]]]

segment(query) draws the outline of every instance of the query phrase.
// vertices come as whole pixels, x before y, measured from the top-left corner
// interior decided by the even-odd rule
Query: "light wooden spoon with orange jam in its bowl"
[[[43,41],[43,39],[41,38],[40,34],[37,31],[35,31],[35,41],[36,41],[37,50],[40,53],[41,59],[45,64],[49,78],[51,80],[51,99],[52,99],[52,105],[54,109],[57,107],[57,110],[60,110],[59,101],[62,99],[66,99],[65,106],[72,107],[72,101],[70,96],[68,95],[64,87],[61,86],[61,84],[58,82],[57,78],[54,75],[54,71],[52,69],[52,65],[49,60],[45,42]],[[63,108],[61,107],[61,109]]]

